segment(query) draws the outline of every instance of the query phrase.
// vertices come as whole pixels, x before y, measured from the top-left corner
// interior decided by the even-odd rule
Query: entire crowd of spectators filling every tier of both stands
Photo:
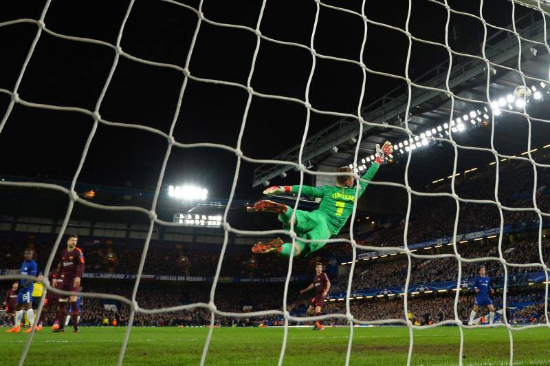
[[[544,152],[538,155],[538,162],[548,162],[550,154]],[[454,189],[459,197],[476,200],[494,200],[494,184],[496,174],[494,166],[478,169],[469,175],[456,177]],[[522,177],[522,179],[518,179]],[[500,164],[498,200],[509,207],[533,206],[533,168],[527,162],[507,161]],[[550,170],[539,169],[536,182],[536,204],[543,213],[550,212],[550,195],[547,186],[550,186]],[[428,187],[428,192],[450,192],[450,180]],[[454,230],[456,202],[450,197],[417,197],[413,196],[412,211],[408,225],[408,244],[419,243],[428,239],[437,239],[450,236]],[[504,223],[515,230],[531,228],[538,225],[539,217],[532,211],[503,211]],[[543,224],[548,224],[545,218]],[[470,233],[483,229],[500,226],[500,212],[494,204],[472,204],[461,202],[459,205],[458,233]],[[404,222],[388,227],[376,228],[367,233],[358,242],[371,246],[402,246]],[[502,254],[508,263],[537,263],[540,261],[538,238],[525,235],[523,239],[503,238]],[[463,258],[499,257],[498,238],[470,241],[467,244],[457,244],[459,254]],[[34,248],[39,268],[45,267],[47,257],[52,250],[52,243],[33,242],[25,246]],[[17,269],[21,266],[23,250],[14,252],[13,242],[0,243],[0,269]],[[137,273],[137,267],[142,255],[142,247],[135,244],[108,244],[94,243],[80,245],[86,258],[86,272],[110,273]],[[213,249],[212,249],[213,248]],[[189,250],[184,246],[171,246],[162,243],[151,244],[144,266],[144,274],[152,275],[186,275],[186,276],[213,276],[219,262],[220,246],[208,250]],[[241,246],[225,253],[221,277],[283,277],[287,275],[287,265],[275,256],[255,256],[250,248]],[[341,246],[326,246],[316,252],[316,256],[302,261],[296,266],[293,275],[311,275],[316,261],[327,263],[334,257],[346,257],[350,254],[348,244]],[[441,254],[452,252],[452,246],[443,246],[422,254]],[[542,239],[542,256],[550,266],[550,241]],[[56,263],[56,262],[54,262]],[[504,267],[497,261],[462,263],[462,278],[471,279],[477,274],[478,267],[484,265],[491,277],[505,274]],[[508,266],[509,275],[521,275],[525,272],[537,272],[541,268]],[[373,259],[356,263],[353,274],[352,289],[386,288],[404,285],[408,272],[408,258],[406,255]],[[410,283],[430,283],[434,281],[456,281],[458,262],[456,258],[412,258],[410,266]],[[343,290],[347,286],[349,274],[341,275],[333,281],[333,290]],[[88,284],[90,283],[90,284]],[[155,281],[140,286],[137,293],[137,302],[141,308],[167,308],[189,303],[208,303],[209,289],[198,283],[194,286],[166,286]],[[160,284],[159,284],[160,283]],[[511,281],[511,284],[518,284]],[[115,281],[109,283],[101,281],[85,281],[86,292],[112,292],[126,298],[131,298],[133,283]],[[289,311],[294,315],[305,315],[309,305],[309,298],[298,295],[298,287],[303,283],[292,283],[289,289]],[[529,286],[531,287],[531,286]],[[2,288],[5,292],[7,288]],[[542,290],[514,290],[509,297],[509,314],[512,323],[538,323],[545,321],[544,304],[541,302]],[[500,295],[496,295],[494,302],[501,304]],[[283,286],[279,284],[226,284],[219,283],[214,302],[217,309],[224,312],[250,312],[259,310],[282,310]],[[106,306],[107,305],[107,306]],[[115,305],[115,306],[109,306]],[[454,297],[451,294],[432,294],[411,297],[408,301],[415,323],[426,324],[445,319],[454,319]],[[467,319],[473,305],[472,294],[461,294],[459,297],[458,314],[463,321]],[[514,306],[513,306],[514,305]],[[524,306],[525,305],[525,306]],[[500,305],[501,306],[501,305]],[[514,309],[517,308],[517,309]],[[380,319],[404,319],[403,302],[400,297],[383,297],[363,301],[351,302],[351,313],[355,319],[365,321]],[[47,309],[45,322],[52,323],[54,309]],[[329,301],[325,312],[345,313],[344,301]],[[483,314],[483,313],[481,313]],[[89,325],[125,325],[128,323],[130,308],[126,303],[86,298],[83,305],[82,322]],[[267,316],[261,319],[232,318],[230,316],[216,316],[216,325],[277,325],[281,323],[281,316]],[[333,320],[327,323],[344,323]],[[162,326],[182,325],[201,326],[210,324],[210,312],[206,308],[195,308],[179,312],[161,314],[138,313],[134,319],[135,325]]]

